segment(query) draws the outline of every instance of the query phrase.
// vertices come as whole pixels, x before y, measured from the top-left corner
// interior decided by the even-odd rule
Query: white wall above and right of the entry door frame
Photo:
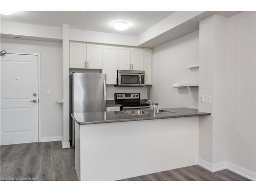
[[[41,139],[62,137],[62,45],[59,42],[1,38],[7,51],[41,54]],[[52,95],[46,95],[52,90]],[[60,139],[59,139],[60,140]]]

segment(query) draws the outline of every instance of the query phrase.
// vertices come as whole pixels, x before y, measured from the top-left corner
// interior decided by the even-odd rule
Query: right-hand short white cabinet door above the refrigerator
[[[102,46],[87,44],[87,69],[102,69]]]

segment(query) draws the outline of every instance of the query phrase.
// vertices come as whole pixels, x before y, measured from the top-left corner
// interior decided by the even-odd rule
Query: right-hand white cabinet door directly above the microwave
[[[131,48],[132,70],[144,70],[143,49]]]

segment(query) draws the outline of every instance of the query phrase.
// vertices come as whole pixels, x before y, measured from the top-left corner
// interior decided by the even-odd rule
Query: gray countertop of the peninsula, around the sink
[[[210,113],[199,112],[197,109],[193,109],[193,108],[167,108],[165,110],[175,111],[175,113],[130,115],[130,114],[124,113],[123,111],[87,112],[87,113],[74,113],[72,114],[72,117],[78,124],[84,125],[84,124],[112,123],[112,122],[123,122],[123,121],[139,121],[139,120],[210,115]]]

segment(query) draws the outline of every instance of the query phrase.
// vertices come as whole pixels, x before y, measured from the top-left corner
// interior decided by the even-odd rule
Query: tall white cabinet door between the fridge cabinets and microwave
[[[117,47],[103,46],[102,73],[106,74],[106,84],[117,84]]]

